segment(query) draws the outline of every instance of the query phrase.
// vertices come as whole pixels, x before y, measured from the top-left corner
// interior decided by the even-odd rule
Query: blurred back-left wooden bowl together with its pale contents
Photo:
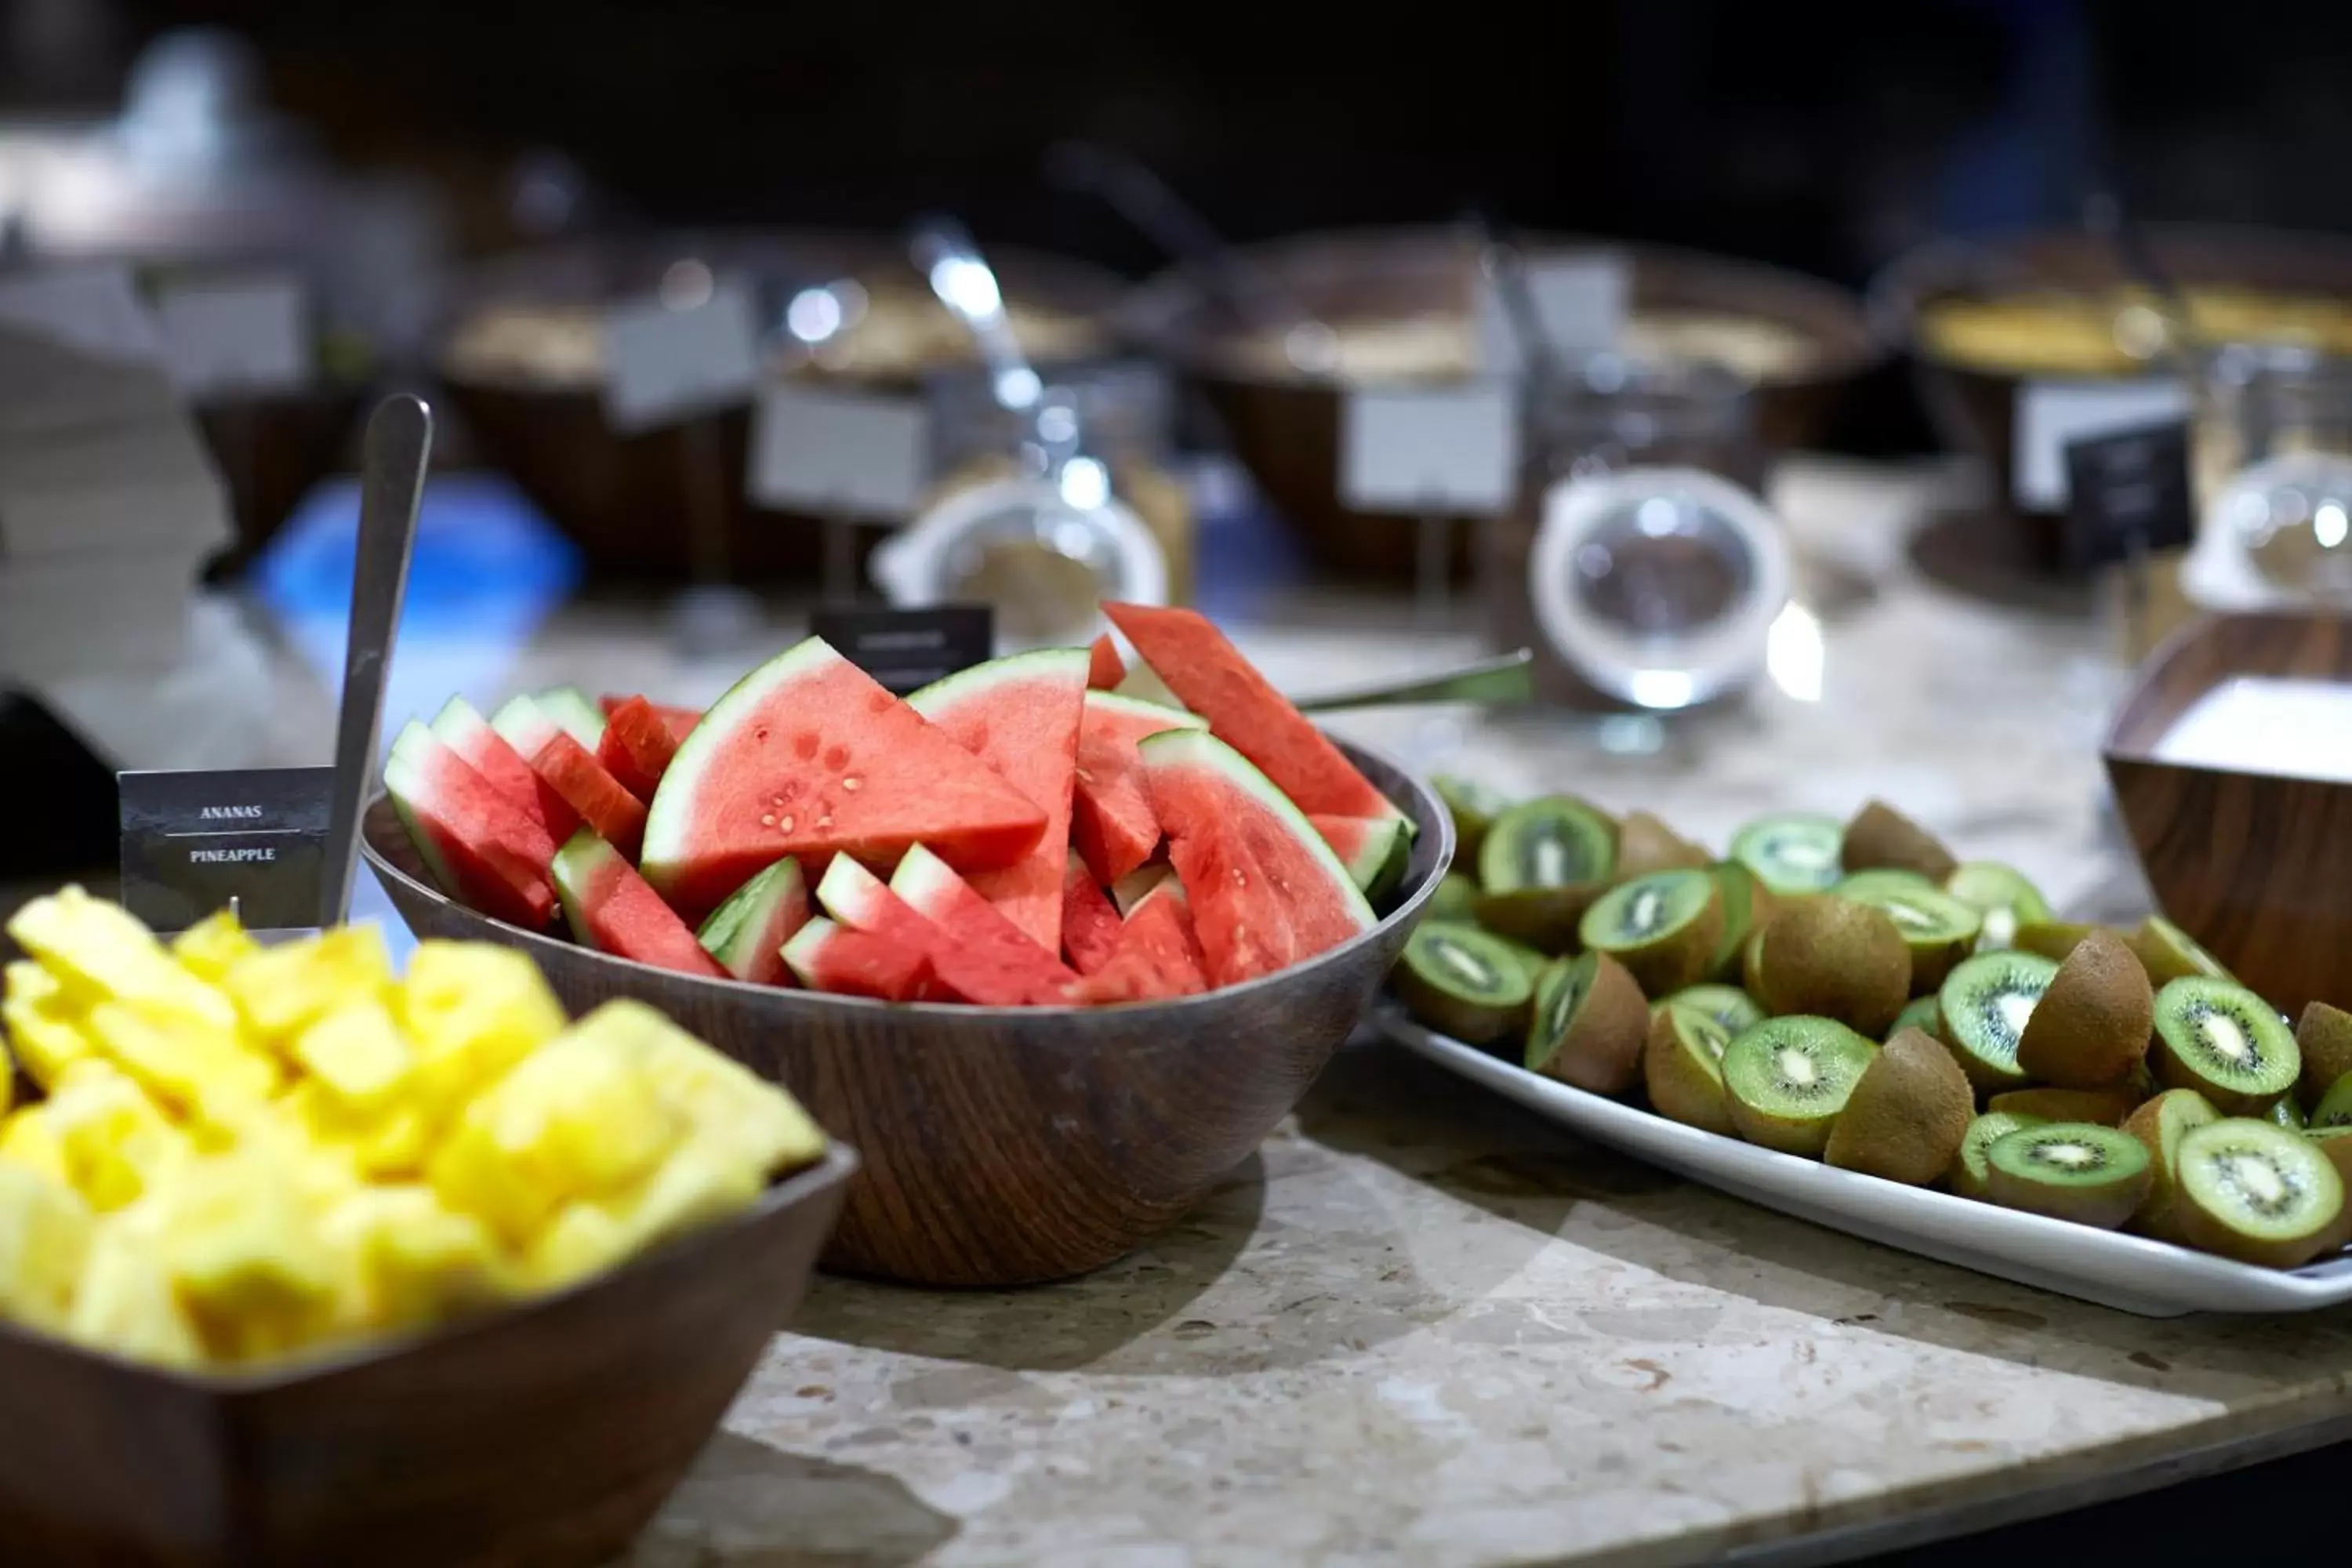
[[[1075,261],[990,247],[1028,355],[1061,364],[1110,346],[1120,284]],[[604,313],[677,268],[750,284],[769,378],[917,397],[929,371],[976,362],[896,235],[823,230],[581,240],[459,277],[433,334],[433,369],[482,454],[569,534],[597,571],[677,578],[691,567],[680,515],[722,494],[739,578],[814,578],[823,529],[743,496],[750,409],[623,435],[604,416]],[[884,536],[861,529],[861,552]]]

